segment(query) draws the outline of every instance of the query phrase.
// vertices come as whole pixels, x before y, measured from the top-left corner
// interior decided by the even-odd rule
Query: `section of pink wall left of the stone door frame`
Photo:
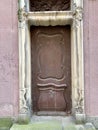
[[[0,0],[0,117],[18,113],[17,0]]]

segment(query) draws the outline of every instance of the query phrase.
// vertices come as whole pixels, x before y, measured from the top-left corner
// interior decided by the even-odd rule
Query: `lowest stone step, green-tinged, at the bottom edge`
[[[85,125],[76,125],[72,123],[64,125],[59,121],[40,121],[27,125],[14,124],[10,130],[95,130],[95,128],[91,123]]]

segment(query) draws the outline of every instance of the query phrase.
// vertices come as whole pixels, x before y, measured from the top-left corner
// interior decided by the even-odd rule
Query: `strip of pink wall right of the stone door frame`
[[[84,0],[86,113],[98,116],[98,0]]]

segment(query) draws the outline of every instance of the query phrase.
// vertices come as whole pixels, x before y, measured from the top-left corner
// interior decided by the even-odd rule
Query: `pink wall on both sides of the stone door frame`
[[[17,1],[0,0],[0,117],[18,114]],[[98,116],[98,0],[84,0],[84,62],[86,113]]]

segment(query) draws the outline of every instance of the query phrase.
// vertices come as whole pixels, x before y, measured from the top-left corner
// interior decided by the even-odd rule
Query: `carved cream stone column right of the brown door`
[[[84,60],[83,60],[83,1],[74,0],[72,5],[72,58],[73,111],[77,122],[85,120],[84,110]],[[72,60],[72,62],[74,62]]]

